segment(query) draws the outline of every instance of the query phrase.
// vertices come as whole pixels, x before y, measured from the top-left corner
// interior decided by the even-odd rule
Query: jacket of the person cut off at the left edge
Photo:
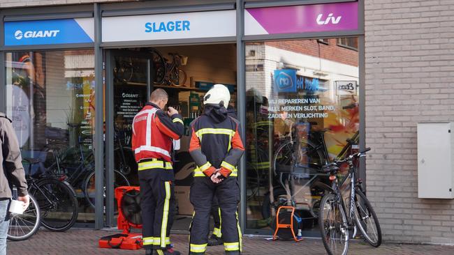
[[[0,112],[0,199],[10,198],[10,185],[17,187],[17,195],[27,195],[19,143],[9,118]]]

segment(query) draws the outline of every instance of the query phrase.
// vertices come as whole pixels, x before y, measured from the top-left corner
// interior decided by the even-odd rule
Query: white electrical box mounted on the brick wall
[[[418,123],[418,198],[453,199],[454,123]]]

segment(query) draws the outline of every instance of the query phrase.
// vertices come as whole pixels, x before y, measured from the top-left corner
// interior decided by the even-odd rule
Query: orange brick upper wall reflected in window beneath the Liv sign
[[[353,49],[337,46],[337,39],[328,39],[328,45],[317,40],[281,40],[266,42],[266,45],[286,49],[291,52],[316,56],[338,63],[358,66],[358,52]]]

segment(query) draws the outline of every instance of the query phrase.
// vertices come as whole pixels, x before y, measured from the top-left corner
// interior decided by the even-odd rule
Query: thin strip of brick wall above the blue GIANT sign
[[[0,0],[0,8],[24,6],[57,6],[75,3],[109,3],[126,1],[133,0]]]

